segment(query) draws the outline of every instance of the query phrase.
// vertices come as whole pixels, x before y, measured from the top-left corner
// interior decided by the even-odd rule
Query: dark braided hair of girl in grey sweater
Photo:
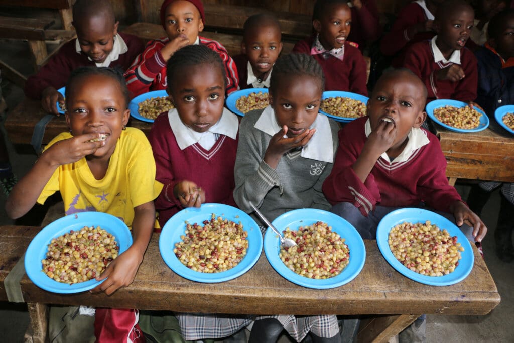
[[[277,59],[273,65],[271,79],[269,81],[269,92],[276,94],[279,80],[283,77],[307,75],[319,80],[321,92],[325,89],[325,75],[323,69],[314,57],[305,53],[290,53]]]

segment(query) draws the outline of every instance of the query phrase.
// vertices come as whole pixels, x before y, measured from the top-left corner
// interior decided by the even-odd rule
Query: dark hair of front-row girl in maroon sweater
[[[168,60],[166,65],[166,78],[168,79],[168,87],[172,87],[170,80],[176,79],[178,71],[184,67],[198,65],[198,64],[213,64],[214,67],[222,71],[225,87],[227,86],[227,72],[223,65],[222,58],[218,53],[207,46],[202,44],[186,45],[178,49]]]

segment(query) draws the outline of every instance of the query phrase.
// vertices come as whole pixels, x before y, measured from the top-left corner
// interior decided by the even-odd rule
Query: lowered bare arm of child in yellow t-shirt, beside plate
[[[144,252],[155,223],[155,207],[154,202],[144,203],[134,208],[134,221],[132,222],[132,245],[112,261],[104,272],[97,276],[96,280],[100,281],[105,278],[104,282],[96,286],[91,293],[105,292],[111,295],[120,287],[126,287],[134,281],[139,265],[143,261]]]

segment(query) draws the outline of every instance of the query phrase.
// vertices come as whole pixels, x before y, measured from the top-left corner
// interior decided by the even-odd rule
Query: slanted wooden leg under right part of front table
[[[384,342],[407,328],[420,314],[400,314],[363,319],[360,323],[358,342]]]

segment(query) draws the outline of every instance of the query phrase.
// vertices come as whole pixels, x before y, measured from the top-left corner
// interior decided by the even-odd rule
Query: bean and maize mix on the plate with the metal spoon
[[[350,262],[350,248],[326,223],[300,226],[298,231],[283,230],[284,238],[297,245],[282,246],[279,257],[296,274],[310,279],[332,278]]]

